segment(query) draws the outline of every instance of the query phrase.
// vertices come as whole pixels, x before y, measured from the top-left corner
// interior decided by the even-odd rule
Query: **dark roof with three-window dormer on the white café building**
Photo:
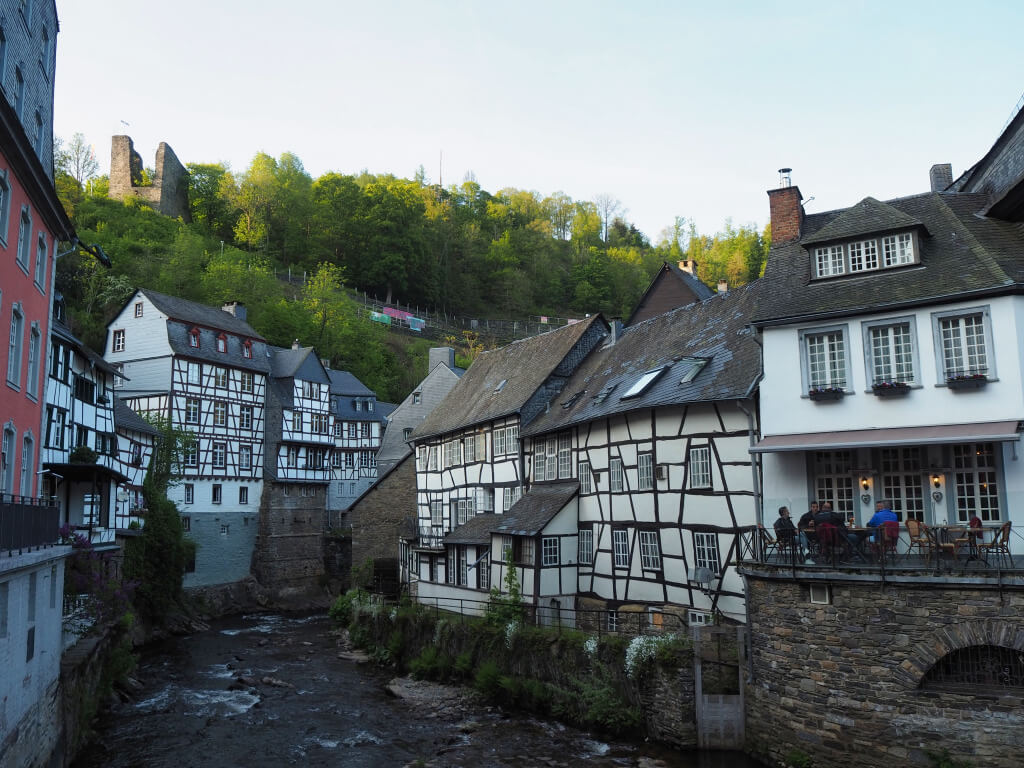
[[[979,216],[986,201],[984,195],[926,193],[807,216],[801,241],[772,247],[765,290],[752,321],[763,326],[823,319],[1019,291],[1024,282],[1024,228]],[[820,242],[822,231],[833,238],[842,231],[852,237],[891,230],[898,219],[882,205],[902,214],[903,221],[924,227],[921,263],[812,282],[805,246]],[[879,217],[860,216],[854,209]]]

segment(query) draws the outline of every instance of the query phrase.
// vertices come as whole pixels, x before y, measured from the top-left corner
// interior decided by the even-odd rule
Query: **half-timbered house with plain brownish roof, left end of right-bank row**
[[[420,600],[467,599],[464,594],[486,599],[490,542],[477,528],[510,510],[522,494],[519,431],[548,408],[607,329],[595,315],[481,353],[413,430],[417,561],[411,578]],[[466,531],[459,529],[470,521],[466,530],[481,536],[464,542]]]

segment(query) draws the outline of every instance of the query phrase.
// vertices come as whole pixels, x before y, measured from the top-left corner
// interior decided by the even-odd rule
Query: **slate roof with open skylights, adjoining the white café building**
[[[749,397],[761,378],[761,347],[746,326],[762,295],[762,281],[756,281],[625,328],[614,345],[590,353],[523,435],[638,409]],[[703,369],[680,383],[697,358],[708,360]],[[663,366],[667,370],[646,390],[623,399],[645,373]],[[611,385],[603,400],[595,397]]]

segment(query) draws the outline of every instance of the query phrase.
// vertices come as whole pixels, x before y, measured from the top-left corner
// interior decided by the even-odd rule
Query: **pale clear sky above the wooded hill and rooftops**
[[[159,9],[159,10],[158,10]],[[606,195],[652,242],[927,191],[991,146],[1024,97],[1024,3],[57,0],[54,133],[110,167],[314,178],[421,165],[445,186]]]

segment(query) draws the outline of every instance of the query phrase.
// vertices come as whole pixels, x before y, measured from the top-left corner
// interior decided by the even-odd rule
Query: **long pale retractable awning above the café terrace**
[[[841,449],[934,445],[946,442],[1006,442],[1016,440],[1024,425],[1020,421],[981,424],[940,424],[930,427],[852,429],[845,432],[803,432],[765,437],[751,447],[752,454],[783,451],[838,451]]]

